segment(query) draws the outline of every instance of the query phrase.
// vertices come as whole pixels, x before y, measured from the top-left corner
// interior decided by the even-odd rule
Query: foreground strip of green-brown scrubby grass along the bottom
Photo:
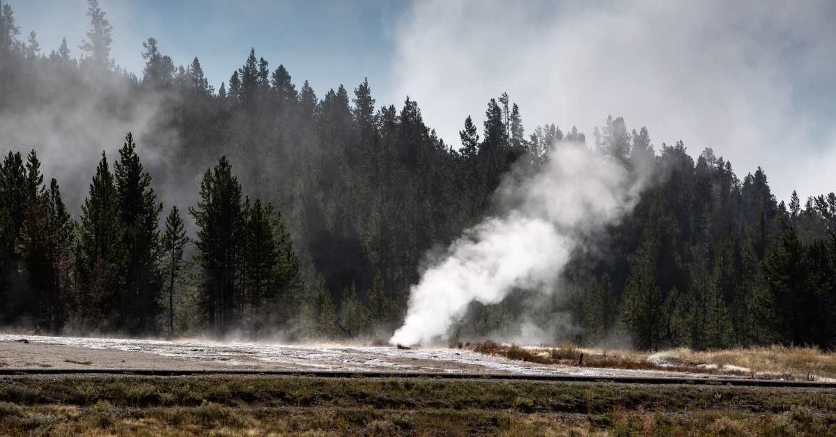
[[[833,435],[825,389],[3,377],[0,435]]]

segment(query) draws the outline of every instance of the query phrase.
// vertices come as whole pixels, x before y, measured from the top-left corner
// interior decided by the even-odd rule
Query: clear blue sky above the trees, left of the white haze
[[[15,12],[22,38],[35,30],[48,53],[65,37],[78,56],[88,23],[86,0],[6,1]],[[339,84],[350,90],[365,76],[375,91],[391,89],[392,31],[408,6],[385,0],[358,4],[261,0],[99,3],[113,24],[112,57],[138,75],[145,63],[140,56],[142,42],[148,37],[156,38],[161,52],[177,65],[200,58],[216,88],[243,64],[250,48],[255,48],[271,69],[284,64],[297,88],[308,79],[320,97]]]

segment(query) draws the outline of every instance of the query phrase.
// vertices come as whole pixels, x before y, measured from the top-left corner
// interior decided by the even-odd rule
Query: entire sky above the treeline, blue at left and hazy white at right
[[[8,0],[22,37],[78,55],[84,0]],[[416,99],[448,142],[506,91],[528,132],[608,114],[757,165],[779,200],[836,191],[836,2],[267,2],[102,0],[113,57],[140,74],[145,38],[176,64],[197,56],[216,87],[249,48],[317,94],[368,76],[379,104]]]

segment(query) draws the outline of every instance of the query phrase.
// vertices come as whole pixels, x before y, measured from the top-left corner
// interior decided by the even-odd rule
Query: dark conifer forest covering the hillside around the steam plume
[[[215,89],[198,58],[175,66],[148,38],[140,79],[110,58],[113,29],[95,0],[86,13],[78,48],[42,53],[0,5],[0,120],[58,107],[78,122],[55,121],[59,141],[95,130],[96,115],[125,124],[64,191],[41,160],[75,152],[42,151],[0,124],[18,141],[0,138],[3,325],[385,339],[426,253],[499,207],[503,175],[584,146],[651,178],[638,205],[574,254],[554,290],[473,303],[451,338],[523,338],[533,324],[538,341],[836,347],[836,194],[778,202],[760,168],[741,179],[711,149],[696,160],[681,142],[656,150],[621,118],[590,145],[575,128],[527,132],[507,94],[489,99],[481,124],[467,115],[448,145],[409,97],[378,106],[364,81],[320,98],[255,49]],[[77,107],[92,117],[64,110]]]

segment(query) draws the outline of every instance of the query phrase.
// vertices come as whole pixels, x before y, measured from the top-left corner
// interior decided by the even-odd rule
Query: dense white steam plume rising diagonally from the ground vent
[[[404,325],[390,343],[445,338],[468,304],[501,302],[515,289],[548,289],[584,236],[619,220],[645,178],[583,147],[558,146],[528,178],[507,178],[507,207],[451,244],[410,291]]]

